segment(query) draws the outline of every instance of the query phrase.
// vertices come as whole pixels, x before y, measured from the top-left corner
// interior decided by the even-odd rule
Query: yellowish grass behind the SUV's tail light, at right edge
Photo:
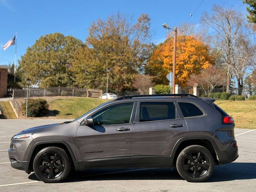
[[[236,123],[236,128],[256,129],[256,100],[214,102]]]

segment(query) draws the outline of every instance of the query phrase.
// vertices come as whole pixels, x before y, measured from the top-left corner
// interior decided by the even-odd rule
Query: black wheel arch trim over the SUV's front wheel
[[[72,164],[75,168],[79,168],[79,164],[76,161],[76,158],[74,156],[74,153],[72,152],[70,146],[61,140],[51,140],[51,141],[41,141],[41,142],[37,142],[34,144],[34,146],[32,147],[32,149],[30,150],[29,156],[28,156],[28,167],[26,168],[26,172],[28,174],[30,174],[30,172],[33,171],[33,162],[34,162],[34,158],[36,156],[36,154],[43,148],[46,147],[50,147],[50,146],[54,146],[54,147],[59,147],[64,149],[68,155],[71,157],[72,159]]]

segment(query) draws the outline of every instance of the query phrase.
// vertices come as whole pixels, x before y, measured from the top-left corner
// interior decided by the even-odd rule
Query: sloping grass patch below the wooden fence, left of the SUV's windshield
[[[56,118],[75,119],[107,101],[99,98],[66,97],[56,98],[48,103],[49,110],[56,114]]]

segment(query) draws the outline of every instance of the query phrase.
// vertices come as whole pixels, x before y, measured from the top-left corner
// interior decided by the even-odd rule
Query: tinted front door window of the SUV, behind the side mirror
[[[96,125],[130,123],[133,102],[108,106],[92,115]]]

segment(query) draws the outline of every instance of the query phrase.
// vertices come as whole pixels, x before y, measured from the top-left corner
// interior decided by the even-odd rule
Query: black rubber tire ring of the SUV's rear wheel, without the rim
[[[199,177],[199,178],[191,177],[183,170],[183,167],[182,167],[183,159],[186,156],[186,154],[188,154],[191,151],[200,151],[200,152],[204,153],[204,155],[209,160],[209,169],[206,172],[206,174],[202,177]],[[184,178],[188,182],[204,182],[212,175],[212,172],[214,170],[214,159],[208,149],[204,148],[203,146],[192,145],[192,146],[188,146],[188,147],[184,148],[184,150],[182,150],[182,152],[180,152],[180,154],[177,158],[176,168],[177,168],[180,176],[182,176],[182,178]]]

